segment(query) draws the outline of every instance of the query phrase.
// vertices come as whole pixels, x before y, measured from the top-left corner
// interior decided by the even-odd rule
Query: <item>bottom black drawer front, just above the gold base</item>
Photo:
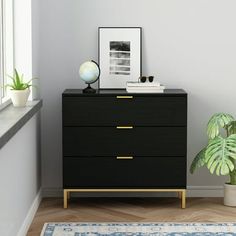
[[[66,157],[64,188],[181,188],[186,186],[185,158]]]

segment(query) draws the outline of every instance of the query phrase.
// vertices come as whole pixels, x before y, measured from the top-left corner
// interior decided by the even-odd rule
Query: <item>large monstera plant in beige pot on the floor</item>
[[[229,175],[230,182],[224,185],[224,204],[236,206],[236,120],[226,113],[213,115],[207,135],[208,144],[194,158],[190,172],[206,166],[211,174]]]

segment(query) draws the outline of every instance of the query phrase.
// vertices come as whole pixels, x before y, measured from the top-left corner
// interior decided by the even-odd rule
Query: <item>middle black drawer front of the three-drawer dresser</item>
[[[65,127],[64,156],[185,156],[186,127]]]

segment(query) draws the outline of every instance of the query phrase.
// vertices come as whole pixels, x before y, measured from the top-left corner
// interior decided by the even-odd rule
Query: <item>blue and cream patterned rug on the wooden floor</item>
[[[236,223],[46,223],[41,236],[236,236]]]

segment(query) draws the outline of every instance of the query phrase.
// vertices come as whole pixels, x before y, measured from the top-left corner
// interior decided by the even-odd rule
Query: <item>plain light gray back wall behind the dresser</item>
[[[143,72],[189,94],[188,163],[215,112],[235,113],[236,1],[40,0],[43,186],[62,186],[61,93],[81,88],[79,65],[97,59],[99,26],[143,27]],[[189,186],[220,186],[200,170]],[[208,188],[208,187],[205,187]]]

